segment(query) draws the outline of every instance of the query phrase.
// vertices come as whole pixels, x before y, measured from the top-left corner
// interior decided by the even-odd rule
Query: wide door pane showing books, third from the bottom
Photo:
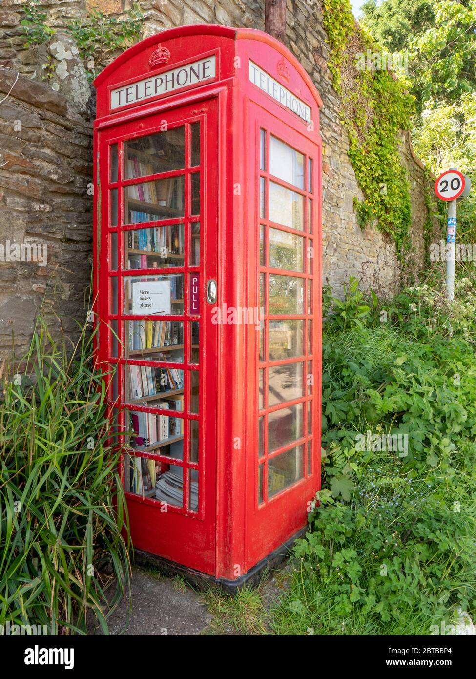
[[[126,377],[126,399],[129,403],[162,410],[183,410],[183,370],[128,365]]]

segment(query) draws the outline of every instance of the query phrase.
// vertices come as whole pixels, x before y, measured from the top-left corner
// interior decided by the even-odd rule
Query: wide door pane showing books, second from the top
[[[168,177],[124,187],[124,222],[174,219],[184,215],[183,177]]]

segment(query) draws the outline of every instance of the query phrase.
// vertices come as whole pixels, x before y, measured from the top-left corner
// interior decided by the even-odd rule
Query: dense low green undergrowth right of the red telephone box
[[[327,315],[325,490],[277,633],[430,634],[459,606],[474,616],[476,278],[456,280],[451,312],[443,293],[437,278],[383,304],[352,280]]]

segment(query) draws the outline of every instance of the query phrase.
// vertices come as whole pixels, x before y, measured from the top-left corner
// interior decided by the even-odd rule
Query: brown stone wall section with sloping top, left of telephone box
[[[4,67],[0,102],[3,357],[12,333],[22,354],[42,306],[52,329],[61,324],[69,336],[77,331],[75,319],[84,323],[92,264],[92,130],[64,96]]]

